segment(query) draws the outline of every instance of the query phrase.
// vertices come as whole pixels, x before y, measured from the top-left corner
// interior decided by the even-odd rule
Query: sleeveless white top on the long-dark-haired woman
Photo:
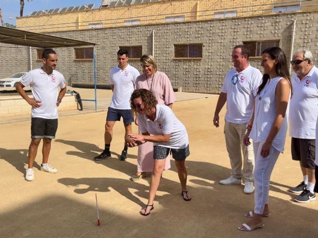
[[[282,79],[277,76],[268,80],[263,90],[255,98],[255,112],[252,130],[249,138],[254,142],[265,142],[276,118],[275,90],[277,83]],[[272,146],[279,152],[284,152],[284,145],[288,126],[289,102],[286,115],[280,130],[276,134]]]

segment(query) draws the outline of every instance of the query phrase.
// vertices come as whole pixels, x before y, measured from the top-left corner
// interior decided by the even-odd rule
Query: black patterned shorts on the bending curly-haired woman
[[[162,160],[168,157],[171,150],[172,158],[176,161],[184,161],[190,155],[189,145],[183,149],[172,149],[154,145],[154,160]]]

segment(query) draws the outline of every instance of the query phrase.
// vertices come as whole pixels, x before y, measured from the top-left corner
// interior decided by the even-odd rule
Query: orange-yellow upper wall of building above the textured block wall
[[[142,25],[164,23],[165,17],[184,16],[184,21],[214,19],[227,12],[236,16],[264,15],[273,12],[273,6],[297,5],[288,0],[166,0],[119,7],[97,8],[86,11],[64,12],[18,17],[16,25],[21,30],[58,32],[87,29],[90,25],[101,28],[125,26],[125,21],[139,20]],[[318,0],[302,1],[302,11],[318,9]],[[39,9],[41,10],[41,9]],[[230,14],[231,15],[231,14]],[[230,16],[228,15],[228,16]],[[127,23],[126,23],[127,24]]]

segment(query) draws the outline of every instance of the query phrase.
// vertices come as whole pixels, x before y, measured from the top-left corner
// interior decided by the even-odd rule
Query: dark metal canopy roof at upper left
[[[0,43],[38,48],[95,46],[96,43],[50,36],[0,26]]]

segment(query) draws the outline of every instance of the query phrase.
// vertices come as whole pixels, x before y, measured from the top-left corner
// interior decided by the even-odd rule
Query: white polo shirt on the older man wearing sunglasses
[[[318,68],[313,68],[300,80],[292,76],[293,97],[290,100],[289,135],[294,138],[315,139],[318,117]]]

